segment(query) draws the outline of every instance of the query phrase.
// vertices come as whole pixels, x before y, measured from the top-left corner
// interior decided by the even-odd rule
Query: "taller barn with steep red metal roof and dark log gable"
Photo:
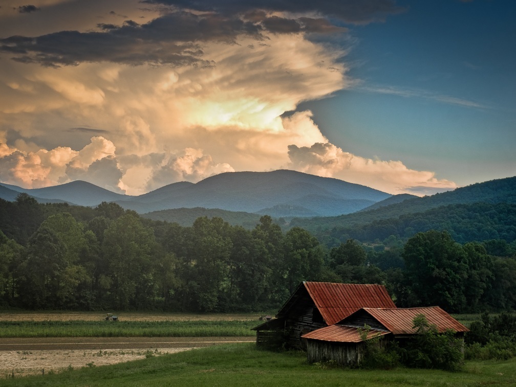
[[[253,328],[256,344],[307,349],[303,334],[332,326],[364,307],[396,308],[383,285],[304,281],[276,318]]]

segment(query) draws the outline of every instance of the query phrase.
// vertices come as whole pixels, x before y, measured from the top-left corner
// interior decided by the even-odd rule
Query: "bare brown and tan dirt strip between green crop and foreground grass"
[[[0,379],[116,364],[253,337],[0,339]]]

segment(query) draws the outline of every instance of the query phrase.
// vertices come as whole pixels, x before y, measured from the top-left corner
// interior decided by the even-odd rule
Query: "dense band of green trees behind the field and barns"
[[[0,200],[0,307],[265,311],[313,280],[383,283],[400,307],[514,310],[514,206],[476,205],[485,206],[478,225],[463,222],[474,241],[454,217],[469,206],[445,209],[449,228],[431,229],[443,214],[430,210],[424,226],[400,223],[382,240],[362,244],[367,228],[357,228],[325,244],[299,227],[282,231],[268,215],[251,229],[206,216],[185,227],[114,203],[43,205],[22,193]],[[486,224],[505,231],[479,231]],[[408,228],[413,236],[402,238]]]

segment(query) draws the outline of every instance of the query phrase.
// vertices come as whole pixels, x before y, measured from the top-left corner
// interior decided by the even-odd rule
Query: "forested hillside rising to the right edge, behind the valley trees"
[[[509,206],[504,207],[503,204]],[[291,225],[317,233],[324,240],[351,237],[374,241],[389,235],[407,238],[417,231],[435,228],[450,230],[461,242],[489,238],[511,241],[514,235],[510,227],[513,218],[510,216],[513,216],[514,204],[516,177],[510,177],[347,215],[295,218]],[[475,225],[468,226],[466,222]],[[483,222],[487,222],[489,227],[482,225]]]

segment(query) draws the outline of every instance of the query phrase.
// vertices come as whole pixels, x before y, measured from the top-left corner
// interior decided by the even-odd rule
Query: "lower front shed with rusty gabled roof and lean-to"
[[[439,307],[361,308],[335,325],[303,334],[302,339],[307,340],[307,360],[310,363],[332,360],[343,365],[356,365],[365,350],[359,328],[364,325],[372,328],[366,340],[377,336],[384,340],[407,340],[416,334],[413,319],[419,314],[424,314],[439,333],[451,329],[457,338],[463,339],[464,332],[468,331]]]

